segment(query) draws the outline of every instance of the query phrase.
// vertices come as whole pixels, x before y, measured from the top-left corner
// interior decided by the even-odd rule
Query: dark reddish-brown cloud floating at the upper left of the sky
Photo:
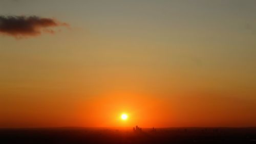
[[[39,36],[42,32],[54,34],[56,27],[68,27],[67,23],[38,16],[0,16],[0,34],[15,38]]]

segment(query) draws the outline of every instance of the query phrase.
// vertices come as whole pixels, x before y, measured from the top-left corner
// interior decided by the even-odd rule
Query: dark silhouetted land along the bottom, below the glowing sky
[[[0,143],[256,143],[256,128],[0,129]]]

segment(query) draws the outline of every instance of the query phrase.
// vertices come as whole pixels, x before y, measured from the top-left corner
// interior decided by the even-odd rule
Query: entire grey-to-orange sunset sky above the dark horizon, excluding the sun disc
[[[0,0],[0,127],[256,126],[255,7]]]

